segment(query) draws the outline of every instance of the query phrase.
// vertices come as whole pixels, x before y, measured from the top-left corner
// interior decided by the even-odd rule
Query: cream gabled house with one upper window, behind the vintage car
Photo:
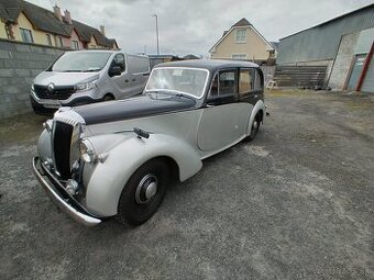
[[[246,19],[224,31],[209,53],[211,58],[245,59],[260,64],[276,56],[272,44]]]

